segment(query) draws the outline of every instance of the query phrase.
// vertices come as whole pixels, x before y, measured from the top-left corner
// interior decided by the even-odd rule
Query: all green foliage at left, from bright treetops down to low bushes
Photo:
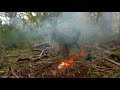
[[[37,26],[40,27],[43,21],[57,15],[58,12],[4,12],[10,23],[0,26],[0,49],[22,48],[43,42],[45,36],[39,35]]]

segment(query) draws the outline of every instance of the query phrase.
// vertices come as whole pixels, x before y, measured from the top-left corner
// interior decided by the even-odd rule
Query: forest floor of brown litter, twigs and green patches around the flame
[[[75,59],[69,66],[58,68],[58,65],[64,60],[71,58],[74,54],[62,57],[59,53],[56,55],[46,55],[42,58],[32,61],[23,60],[30,56],[40,55],[40,51],[32,51],[31,49],[11,49],[2,50],[0,52],[0,77],[1,78],[119,78],[120,66],[109,62],[106,58],[110,58],[102,50],[92,45],[84,46],[84,52],[91,53],[93,59],[85,60],[85,56]],[[112,48],[119,47],[113,45]],[[111,49],[112,49],[111,48]],[[109,50],[112,51],[112,50]],[[71,51],[73,52],[73,51]],[[113,52],[116,53],[116,52]],[[120,49],[117,49],[117,54]],[[119,63],[119,59],[110,58]]]

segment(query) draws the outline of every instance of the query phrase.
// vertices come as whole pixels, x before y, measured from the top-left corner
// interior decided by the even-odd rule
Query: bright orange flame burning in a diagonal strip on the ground
[[[79,52],[77,54],[75,54],[72,58],[68,59],[68,60],[64,60],[63,62],[61,62],[59,65],[58,65],[58,68],[61,69],[63,67],[67,67],[70,65],[70,63],[72,63],[77,57],[79,56],[83,56],[85,53],[84,52]]]

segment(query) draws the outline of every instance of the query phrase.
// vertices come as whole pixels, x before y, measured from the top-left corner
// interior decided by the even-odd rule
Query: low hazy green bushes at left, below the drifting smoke
[[[9,49],[29,46],[44,39],[40,35],[36,36],[33,32],[22,33],[19,29],[3,25],[0,30],[0,40],[0,48]]]

